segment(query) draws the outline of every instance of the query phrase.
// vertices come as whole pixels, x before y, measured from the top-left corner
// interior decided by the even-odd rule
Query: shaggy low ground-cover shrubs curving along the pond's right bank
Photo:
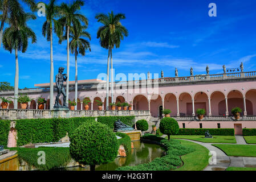
[[[181,155],[189,154],[194,149],[182,146],[178,140],[156,137],[152,134],[145,134],[144,139],[151,139],[163,144],[166,155],[161,158],[156,158],[150,163],[139,164],[137,166],[124,166],[119,167],[117,171],[169,171],[170,169],[176,169],[182,165]]]

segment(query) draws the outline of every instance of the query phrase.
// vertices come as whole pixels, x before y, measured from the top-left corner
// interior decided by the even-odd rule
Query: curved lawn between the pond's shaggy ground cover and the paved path
[[[209,150],[200,144],[193,142],[180,140],[181,144],[186,147],[194,148],[196,151],[189,153],[187,155],[181,156],[184,165],[176,171],[202,171],[208,166]]]

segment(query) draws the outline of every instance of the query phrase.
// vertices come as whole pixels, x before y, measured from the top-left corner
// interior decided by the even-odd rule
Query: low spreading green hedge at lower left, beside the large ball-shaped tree
[[[19,161],[25,161],[29,168],[35,167],[41,171],[50,170],[53,168],[66,167],[71,160],[70,149],[68,147],[38,147],[38,148],[9,148],[10,150],[17,150]],[[45,152],[45,164],[38,164],[38,152]]]

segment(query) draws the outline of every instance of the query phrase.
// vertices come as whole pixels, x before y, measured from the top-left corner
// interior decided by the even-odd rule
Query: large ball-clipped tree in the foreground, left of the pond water
[[[80,125],[70,137],[70,154],[76,162],[95,166],[112,162],[117,156],[119,145],[115,133],[107,125],[87,122]]]

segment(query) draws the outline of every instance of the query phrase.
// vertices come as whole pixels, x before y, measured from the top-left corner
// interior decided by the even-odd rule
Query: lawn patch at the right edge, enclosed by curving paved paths
[[[220,148],[228,156],[256,157],[256,145],[246,144],[212,144]]]

